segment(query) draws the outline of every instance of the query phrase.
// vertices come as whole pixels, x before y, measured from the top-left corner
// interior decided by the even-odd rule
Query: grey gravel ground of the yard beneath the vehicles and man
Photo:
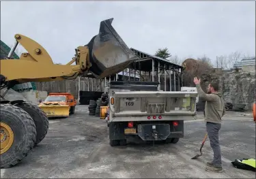
[[[88,116],[87,105],[76,106],[69,118],[51,119],[44,140],[18,165],[1,169],[1,178],[255,178],[236,169],[234,159],[255,158],[255,123],[250,113],[227,112],[221,129],[223,173],[205,172],[212,159],[210,142],[199,152],[205,135],[202,113],[186,121],[177,144],[130,141],[111,147],[104,120]]]

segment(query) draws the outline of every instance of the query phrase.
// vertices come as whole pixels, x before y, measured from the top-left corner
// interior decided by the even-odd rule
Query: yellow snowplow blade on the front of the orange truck
[[[68,117],[70,115],[69,105],[38,105],[48,118],[52,117]]]

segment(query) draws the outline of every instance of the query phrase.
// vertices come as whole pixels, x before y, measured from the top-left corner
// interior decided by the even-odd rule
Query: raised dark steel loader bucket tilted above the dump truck
[[[96,78],[104,78],[124,70],[138,59],[118,35],[111,23],[113,18],[100,22],[100,32],[86,45],[91,67]]]

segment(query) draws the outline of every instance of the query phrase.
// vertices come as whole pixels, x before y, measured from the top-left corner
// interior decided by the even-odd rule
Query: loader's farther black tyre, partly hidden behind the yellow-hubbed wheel
[[[39,144],[48,132],[49,122],[46,114],[37,105],[31,103],[23,102],[16,105],[25,110],[25,112],[27,112],[31,118],[33,118],[33,122],[35,123],[36,127],[35,145]]]

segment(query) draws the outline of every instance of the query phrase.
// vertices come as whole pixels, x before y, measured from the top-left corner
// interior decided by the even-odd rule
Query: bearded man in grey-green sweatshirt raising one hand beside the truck
[[[205,94],[200,82],[200,79],[194,78],[199,98],[205,100],[206,131],[210,139],[210,146],[214,152],[214,159],[206,164],[205,170],[208,172],[223,172],[218,131],[221,129],[221,118],[225,114],[225,103],[221,94],[218,93],[218,83],[209,84],[208,94]]]

